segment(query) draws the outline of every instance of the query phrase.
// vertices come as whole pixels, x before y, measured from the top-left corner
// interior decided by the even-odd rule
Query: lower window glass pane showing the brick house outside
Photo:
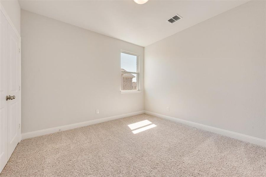
[[[121,72],[121,90],[137,90],[137,74]]]

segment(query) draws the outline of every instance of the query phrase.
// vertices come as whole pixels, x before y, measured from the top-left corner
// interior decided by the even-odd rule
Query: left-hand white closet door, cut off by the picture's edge
[[[7,163],[7,115],[8,101],[6,101],[7,91],[7,33],[8,22],[2,12],[0,12],[0,171]]]

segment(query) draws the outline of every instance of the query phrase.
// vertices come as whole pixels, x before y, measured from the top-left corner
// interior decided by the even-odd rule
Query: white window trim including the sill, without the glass
[[[132,52],[126,51],[126,50],[121,50],[121,53],[137,56],[137,72],[136,73],[124,72],[124,73],[130,73],[130,74],[136,74],[137,75],[137,90],[121,90],[120,92],[121,92],[121,94],[141,93],[141,90],[140,90],[140,55],[137,53],[132,53]],[[121,58],[120,58],[120,62],[121,62]],[[120,63],[120,66],[121,66],[121,63]],[[122,89],[122,82],[121,82],[120,88]]]

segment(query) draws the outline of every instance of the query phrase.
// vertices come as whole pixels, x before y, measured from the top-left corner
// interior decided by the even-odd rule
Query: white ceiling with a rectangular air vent
[[[19,1],[20,7],[30,12],[144,47],[245,2]],[[173,24],[166,21],[175,14],[183,19]]]

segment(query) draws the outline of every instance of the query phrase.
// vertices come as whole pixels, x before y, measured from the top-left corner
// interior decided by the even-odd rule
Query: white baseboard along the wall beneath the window
[[[101,118],[101,119],[89,120],[86,122],[80,122],[80,123],[76,123],[76,124],[69,124],[69,125],[64,125],[64,126],[60,126],[60,127],[53,127],[53,128],[48,128],[48,129],[44,129],[44,130],[38,130],[38,131],[34,131],[34,132],[22,133],[21,139],[24,140],[24,139],[31,138],[31,137],[47,135],[47,134],[51,134],[51,133],[55,133],[55,132],[59,132],[59,131],[65,131],[65,130],[70,130],[70,129],[74,129],[74,128],[78,128],[78,127],[84,127],[84,126],[88,126],[88,125],[92,125],[92,124],[98,124],[101,122],[107,122],[110,120],[134,116],[134,115],[138,115],[138,114],[144,114],[144,111],[131,112],[131,113],[127,113],[127,114],[120,114],[117,116],[111,116],[111,117],[105,117],[105,118]]]

